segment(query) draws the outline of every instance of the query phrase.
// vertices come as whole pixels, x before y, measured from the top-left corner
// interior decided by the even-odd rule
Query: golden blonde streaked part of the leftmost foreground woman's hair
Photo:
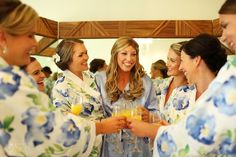
[[[6,6],[7,7],[7,6]],[[11,35],[23,35],[29,32],[37,22],[38,14],[30,6],[19,3],[0,22],[3,31]]]

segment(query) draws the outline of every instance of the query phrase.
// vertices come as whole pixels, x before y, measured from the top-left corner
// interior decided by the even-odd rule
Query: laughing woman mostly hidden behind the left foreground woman
[[[22,67],[35,80],[38,89],[45,92],[44,79],[46,76],[42,72],[40,63],[34,58],[30,57],[30,63]]]

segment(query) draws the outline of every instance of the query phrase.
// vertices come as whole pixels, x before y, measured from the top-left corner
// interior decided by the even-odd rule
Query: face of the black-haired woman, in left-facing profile
[[[194,64],[194,59],[187,55],[184,51],[181,52],[181,64],[179,70],[183,71],[188,83],[190,85],[195,84],[196,78],[196,66]]]

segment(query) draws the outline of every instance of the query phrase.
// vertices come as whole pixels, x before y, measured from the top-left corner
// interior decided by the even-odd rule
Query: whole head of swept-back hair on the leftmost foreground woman
[[[1,0],[0,15],[0,29],[11,35],[27,33],[38,19],[36,11],[19,0]]]

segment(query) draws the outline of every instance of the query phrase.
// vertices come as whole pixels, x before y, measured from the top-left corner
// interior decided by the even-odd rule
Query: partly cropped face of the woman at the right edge
[[[236,14],[220,14],[221,40],[236,52]]]

